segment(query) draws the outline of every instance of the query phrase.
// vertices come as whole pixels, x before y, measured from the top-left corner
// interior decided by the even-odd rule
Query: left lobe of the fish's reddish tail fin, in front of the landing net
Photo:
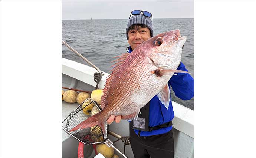
[[[83,128],[88,128],[88,127],[93,127],[99,124],[99,114],[95,114],[91,117],[89,117],[88,119],[86,119],[85,121],[81,122],[80,124],[78,124],[76,127],[72,128],[70,130],[70,132],[72,131],[76,131],[76,130],[82,130]]]

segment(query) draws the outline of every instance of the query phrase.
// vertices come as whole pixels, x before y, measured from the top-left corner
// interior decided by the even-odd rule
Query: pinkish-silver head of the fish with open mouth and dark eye
[[[142,43],[153,64],[162,69],[176,69],[181,61],[182,48],[187,37],[180,30],[160,33]]]

